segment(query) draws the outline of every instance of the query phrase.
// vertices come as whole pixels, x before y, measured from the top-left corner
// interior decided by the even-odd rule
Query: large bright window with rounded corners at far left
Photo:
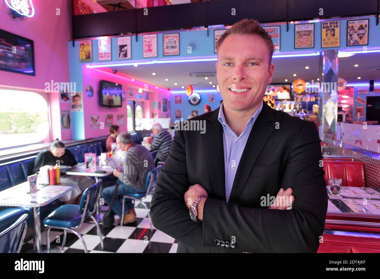
[[[49,141],[47,95],[0,89],[0,148]]]

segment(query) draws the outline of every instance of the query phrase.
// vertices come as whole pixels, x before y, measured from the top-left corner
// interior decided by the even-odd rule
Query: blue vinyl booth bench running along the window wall
[[[141,144],[142,135],[139,132],[131,132],[133,142]],[[101,152],[106,151],[106,140],[92,141],[90,143],[84,143],[81,145],[68,146],[68,150],[73,153],[74,158],[78,163],[84,162],[84,153],[93,152],[100,155]],[[32,170],[34,166],[34,160],[37,154],[33,156],[28,156],[22,159],[17,159],[14,161],[4,162],[0,164],[0,191],[8,189],[12,186],[20,184],[27,181],[27,177],[32,175]],[[63,205],[63,202],[55,200],[48,205],[42,206],[40,208],[40,218],[43,220],[47,215],[49,215],[53,210]],[[14,206],[0,206],[0,228],[4,228],[9,224],[12,224],[13,219],[8,219],[9,210],[14,210],[15,208],[19,210],[27,210],[29,212],[28,227],[33,226],[33,214],[31,208],[14,207]],[[10,216],[11,217],[11,216]],[[10,218],[9,217],[9,218]],[[2,230],[0,229],[0,232]]]

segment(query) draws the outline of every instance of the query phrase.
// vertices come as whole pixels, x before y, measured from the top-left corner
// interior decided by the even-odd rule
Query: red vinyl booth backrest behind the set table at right
[[[363,162],[323,159],[326,185],[329,178],[342,178],[342,186],[366,187]]]

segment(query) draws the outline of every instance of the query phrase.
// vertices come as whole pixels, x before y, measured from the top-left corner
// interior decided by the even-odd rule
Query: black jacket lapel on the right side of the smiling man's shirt
[[[251,173],[252,167],[255,164],[255,161],[263,149],[265,143],[268,141],[269,136],[271,136],[274,130],[274,126],[268,123],[274,119],[272,110],[273,109],[264,102],[263,109],[258,115],[255,124],[253,125],[252,130],[249,134],[247,143],[245,144],[239,166],[237,167],[237,172],[232,186],[229,202],[237,203],[239,200],[241,192],[243,191],[245,183],[247,182],[249,174]]]

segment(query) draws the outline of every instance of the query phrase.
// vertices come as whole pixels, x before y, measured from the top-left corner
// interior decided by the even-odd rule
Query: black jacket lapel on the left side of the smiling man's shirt
[[[206,154],[209,161],[212,185],[215,198],[226,199],[224,150],[223,150],[223,127],[218,121],[219,109],[214,110],[208,118],[205,132]]]

